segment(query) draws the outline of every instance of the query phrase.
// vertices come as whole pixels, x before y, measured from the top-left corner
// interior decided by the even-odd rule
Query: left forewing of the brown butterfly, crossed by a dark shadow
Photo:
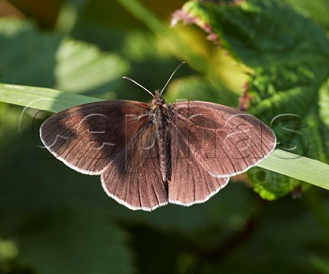
[[[71,168],[82,173],[100,174],[112,162],[113,156],[124,149],[125,141],[138,134],[147,117],[136,117],[147,108],[146,103],[132,101],[103,101],[69,108],[42,124],[41,140],[56,158]],[[130,119],[129,125],[127,119]],[[130,136],[127,135],[128,127]]]

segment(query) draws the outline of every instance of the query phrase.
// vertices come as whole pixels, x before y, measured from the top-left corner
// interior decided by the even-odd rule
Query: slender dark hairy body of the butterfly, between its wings
[[[164,182],[167,182],[171,177],[170,135],[167,110],[168,105],[161,97],[160,90],[156,90],[156,96],[152,100],[152,112],[154,113],[160,169]]]

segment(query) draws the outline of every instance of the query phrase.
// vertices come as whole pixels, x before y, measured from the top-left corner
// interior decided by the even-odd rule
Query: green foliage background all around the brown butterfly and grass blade
[[[278,148],[328,164],[328,1],[185,2],[0,1],[0,81],[149,101],[122,76],[155,90],[185,60],[167,101],[294,114]],[[254,168],[204,204],[133,212],[40,149],[50,114],[3,87],[0,273],[329,273],[328,190]]]

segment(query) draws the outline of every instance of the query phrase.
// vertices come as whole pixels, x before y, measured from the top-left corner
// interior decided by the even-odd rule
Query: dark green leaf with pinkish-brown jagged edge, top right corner
[[[240,5],[188,1],[175,20],[180,18],[203,27],[215,42],[251,67],[294,64],[311,58],[319,62],[321,55],[329,53],[324,29],[277,1],[252,0]]]

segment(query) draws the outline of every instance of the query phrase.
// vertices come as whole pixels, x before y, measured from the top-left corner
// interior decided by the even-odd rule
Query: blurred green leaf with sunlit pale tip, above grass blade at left
[[[0,20],[0,79],[3,83],[69,92],[108,92],[128,71],[113,53],[95,45],[39,32],[28,21]]]

